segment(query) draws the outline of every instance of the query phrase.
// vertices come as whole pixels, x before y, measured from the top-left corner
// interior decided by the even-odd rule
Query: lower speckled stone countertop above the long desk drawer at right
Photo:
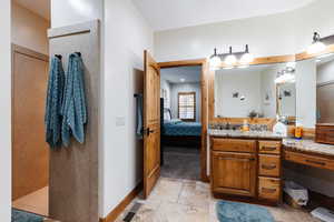
[[[283,140],[283,144],[284,147],[296,151],[313,152],[334,157],[334,145],[316,143],[313,140],[296,140],[286,138]]]

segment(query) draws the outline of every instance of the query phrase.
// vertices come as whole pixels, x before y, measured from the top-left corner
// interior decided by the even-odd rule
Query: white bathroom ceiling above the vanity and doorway
[[[157,30],[279,13],[314,0],[132,0]]]

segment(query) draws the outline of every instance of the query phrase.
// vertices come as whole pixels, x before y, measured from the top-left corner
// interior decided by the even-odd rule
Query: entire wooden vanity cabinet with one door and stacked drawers
[[[213,193],[279,202],[281,145],[281,140],[212,137]]]

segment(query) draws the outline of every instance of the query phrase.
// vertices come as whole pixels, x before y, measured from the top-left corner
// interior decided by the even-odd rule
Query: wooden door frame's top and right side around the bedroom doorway
[[[176,68],[176,67],[202,67],[200,74],[200,110],[202,110],[202,133],[200,133],[200,179],[203,182],[209,182],[209,176],[207,173],[207,160],[208,160],[208,77],[209,77],[209,65],[207,59],[195,59],[195,60],[178,60],[168,62],[158,62],[160,69]]]

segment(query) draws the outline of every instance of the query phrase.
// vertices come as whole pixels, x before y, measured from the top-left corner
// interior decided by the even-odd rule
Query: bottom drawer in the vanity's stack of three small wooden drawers
[[[281,200],[281,180],[273,178],[258,178],[258,198],[278,202]]]

